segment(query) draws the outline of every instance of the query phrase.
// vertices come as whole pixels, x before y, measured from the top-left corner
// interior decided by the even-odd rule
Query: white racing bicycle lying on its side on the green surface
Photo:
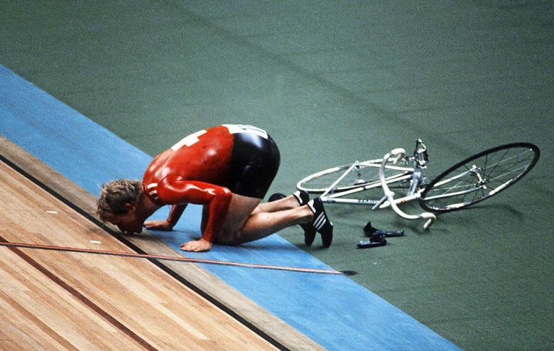
[[[425,220],[423,227],[428,229],[435,214],[461,210],[514,185],[540,156],[533,144],[505,144],[476,153],[429,179],[423,172],[429,163],[428,149],[416,139],[410,156],[403,148],[395,148],[383,158],[308,175],[297,188],[327,203],[371,205],[372,210],[391,207],[408,220]],[[409,215],[398,207],[414,200],[425,212]]]

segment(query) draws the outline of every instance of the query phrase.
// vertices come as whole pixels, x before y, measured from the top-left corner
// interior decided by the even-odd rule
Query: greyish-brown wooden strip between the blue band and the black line
[[[70,202],[73,207],[80,209],[79,212],[82,215],[92,217],[99,222],[95,214],[97,199],[93,195],[1,135],[0,156],[13,163],[17,168],[20,168],[20,171],[26,173],[27,176],[30,175],[34,180],[42,183],[61,198]],[[111,231],[119,233],[111,225],[106,227],[104,229],[107,229],[108,234]],[[130,242],[131,245],[129,246],[131,249],[139,248],[139,251],[146,254],[182,257],[175,249],[159,241],[146,230],[140,235],[119,234],[119,237],[124,238],[124,242]],[[246,327],[253,330],[254,333],[258,333],[262,338],[265,338],[279,349],[325,350],[324,347],[318,345],[315,341],[283,322],[283,320],[266,309],[261,308],[257,303],[254,303],[254,301],[251,301],[251,299],[239,293],[232,286],[229,286],[201,266],[172,261],[158,262],[157,265],[167,267],[167,270],[164,270],[175,279],[178,279],[219,308],[222,308],[222,310],[231,314],[246,325]]]

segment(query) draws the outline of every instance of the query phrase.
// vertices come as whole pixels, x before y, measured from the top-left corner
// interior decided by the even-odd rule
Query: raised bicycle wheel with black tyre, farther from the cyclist
[[[433,179],[423,190],[420,205],[432,212],[448,212],[500,193],[533,168],[541,151],[528,143],[506,144],[477,153]]]

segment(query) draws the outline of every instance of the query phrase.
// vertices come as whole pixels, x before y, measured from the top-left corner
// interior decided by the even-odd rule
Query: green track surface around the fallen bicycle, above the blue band
[[[152,156],[207,126],[268,130],[282,157],[272,193],[415,138],[430,174],[484,148],[538,145],[521,183],[429,232],[329,205],[330,249],[305,247],[297,227],[280,234],[465,350],[554,350],[553,1],[0,6],[1,65]],[[368,220],[406,236],[356,249]]]

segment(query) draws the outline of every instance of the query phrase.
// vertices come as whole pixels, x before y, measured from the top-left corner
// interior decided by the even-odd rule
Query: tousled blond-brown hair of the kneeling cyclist
[[[142,192],[139,180],[119,179],[102,184],[96,214],[106,222],[107,215],[123,215],[129,211],[126,204],[136,205]]]

